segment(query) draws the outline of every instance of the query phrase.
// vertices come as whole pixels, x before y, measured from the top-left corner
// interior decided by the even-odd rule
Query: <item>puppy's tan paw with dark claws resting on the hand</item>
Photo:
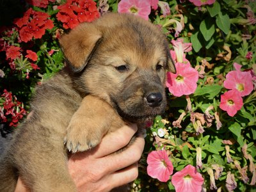
[[[83,152],[97,146],[102,133],[94,127],[88,118],[73,116],[67,128],[64,143],[70,152]]]

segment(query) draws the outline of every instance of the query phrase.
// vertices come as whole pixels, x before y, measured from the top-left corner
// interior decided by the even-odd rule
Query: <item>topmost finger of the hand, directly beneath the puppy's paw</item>
[[[93,154],[95,158],[100,158],[120,150],[120,148],[125,147],[131,141],[132,136],[137,130],[136,124],[129,124],[120,127],[115,132],[110,132],[104,136],[97,147],[93,148],[90,154]]]

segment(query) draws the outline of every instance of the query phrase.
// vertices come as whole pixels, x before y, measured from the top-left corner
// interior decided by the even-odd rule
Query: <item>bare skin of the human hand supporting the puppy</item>
[[[138,177],[138,161],[145,145],[143,136],[115,153],[129,143],[137,129],[136,124],[125,125],[107,134],[92,150],[70,157],[68,170],[78,191],[110,191]],[[15,192],[28,191],[19,178]]]

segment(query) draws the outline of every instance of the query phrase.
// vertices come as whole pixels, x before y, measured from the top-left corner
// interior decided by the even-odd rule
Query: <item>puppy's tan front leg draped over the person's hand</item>
[[[84,97],[67,128],[68,150],[83,152],[98,145],[115,117],[115,110],[104,100],[92,95]]]

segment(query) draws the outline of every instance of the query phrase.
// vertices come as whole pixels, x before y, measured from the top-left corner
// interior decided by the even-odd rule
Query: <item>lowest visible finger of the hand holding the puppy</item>
[[[106,183],[108,183],[108,188],[106,191],[110,191],[113,188],[117,188],[119,186],[123,186],[125,188],[125,184],[134,181],[138,177],[138,164],[132,164],[131,166],[120,170],[118,172],[112,173],[108,175],[106,178]],[[126,186],[127,187],[127,186]],[[125,189],[118,189],[118,191],[127,191]]]

